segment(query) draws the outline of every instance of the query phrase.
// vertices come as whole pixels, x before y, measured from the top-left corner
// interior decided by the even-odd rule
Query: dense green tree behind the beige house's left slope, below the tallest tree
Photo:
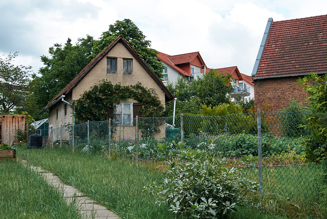
[[[39,105],[45,106],[88,64],[93,42],[93,37],[87,36],[72,45],[68,38],[64,46],[55,43],[49,49],[50,57],[41,56],[44,67],[39,70],[40,77],[34,75],[33,90]]]

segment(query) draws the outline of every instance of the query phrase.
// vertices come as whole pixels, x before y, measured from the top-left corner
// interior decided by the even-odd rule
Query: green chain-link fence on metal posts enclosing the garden
[[[51,147],[73,151],[101,151],[110,156],[154,160],[158,143],[184,142],[186,147],[225,157],[237,166],[244,155],[260,155],[260,166],[247,175],[262,182],[263,193],[285,198],[310,198],[316,194],[321,169],[304,159],[303,140],[308,112],[233,114],[226,116],[180,116],[176,118],[135,118],[87,122],[50,129]],[[259,139],[259,140],[258,140]],[[261,146],[260,150],[259,147]],[[262,176],[262,178],[261,178]]]

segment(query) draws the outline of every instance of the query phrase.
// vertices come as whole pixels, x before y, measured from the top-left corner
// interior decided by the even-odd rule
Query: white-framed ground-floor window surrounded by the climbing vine
[[[125,107],[127,105],[130,105],[129,111]],[[119,104],[115,104],[114,115],[118,124],[133,125],[133,102],[120,102]]]

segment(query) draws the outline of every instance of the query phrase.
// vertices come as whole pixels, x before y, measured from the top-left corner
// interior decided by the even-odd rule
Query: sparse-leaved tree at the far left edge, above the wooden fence
[[[0,57],[0,111],[10,114],[21,108],[29,96],[30,69],[13,64],[17,52],[6,58]]]

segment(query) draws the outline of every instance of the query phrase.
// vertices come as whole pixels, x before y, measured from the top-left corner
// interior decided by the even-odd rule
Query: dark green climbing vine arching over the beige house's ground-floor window
[[[158,117],[164,111],[157,94],[152,94],[141,82],[123,86],[121,83],[112,84],[103,80],[101,84],[95,84],[91,90],[85,91],[80,99],[73,102],[75,116],[79,122],[107,120],[113,116],[114,104],[128,99],[134,99],[142,105],[140,110],[142,117]]]

